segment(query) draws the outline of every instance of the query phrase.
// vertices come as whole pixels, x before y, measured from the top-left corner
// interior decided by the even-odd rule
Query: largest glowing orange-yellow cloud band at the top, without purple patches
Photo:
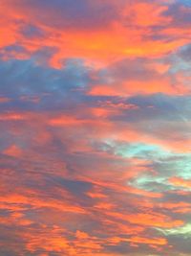
[[[117,6],[116,1],[109,3],[117,9],[119,17],[114,18],[108,25],[94,27],[87,33],[83,27],[60,27],[57,30],[51,24],[46,26],[48,17],[49,19],[57,18],[55,12],[50,9],[46,10],[46,7],[44,14],[38,17],[38,6],[28,5],[24,1],[19,5],[16,1],[3,1],[0,31],[6,36],[1,41],[1,46],[5,47],[19,42],[29,54],[42,46],[55,47],[58,52],[53,56],[51,63],[58,67],[62,58],[89,58],[89,62],[93,61],[99,65],[127,57],[161,57],[189,41],[189,28],[180,33],[172,27],[171,16],[162,15],[162,12],[167,11],[167,6],[163,6],[162,3],[137,1],[131,5],[127,4],[126,7],[120,6],[119,2]],[[63,19],[66,19],[64,15]],[[43,40],[38,35],[33,38],[21,35],[19,28],[21,21],[24,24],[34,24],[41,29],[44,32]],[[127,26],[128,22],[129,26]],[[176,38],[152,39],[152,33],[155,35],[155,31],[152,32],[152,26],[160,26],[161,23],[164,28],[160,29],[160,35],[166,33],[171,36],[171,31],[175,30]],[[15,58],[16,55],[22,58],[16,53]]]

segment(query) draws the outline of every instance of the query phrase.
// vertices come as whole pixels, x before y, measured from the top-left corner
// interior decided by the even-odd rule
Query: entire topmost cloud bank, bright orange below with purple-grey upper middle
[[[55,47],[54,67],[60,67],[62,58],[71,57],[88,58],[96,65],[135,56],[161,57],[189,42],[189,9],[180,4],[10,0],[2,2],[1,10],[0,29],[7,35],[1,46],[19,44],[28,56],[43,46]],[[177,16],[182,16],[182,26],[188,23],[184,31]]]

